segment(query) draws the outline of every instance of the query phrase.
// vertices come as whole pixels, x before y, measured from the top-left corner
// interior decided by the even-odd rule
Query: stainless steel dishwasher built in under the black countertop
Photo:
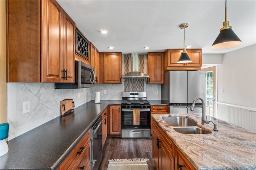
[[[91,170],[98,170],[102,160],[102,116],[92,126],[91,132]]]

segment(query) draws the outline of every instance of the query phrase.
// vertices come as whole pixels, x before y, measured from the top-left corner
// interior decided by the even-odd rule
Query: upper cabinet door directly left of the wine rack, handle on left
[[[75,33],[76,25],[74,21],[63,12],[63,67],[67,70],[63,82],[75,82]],[[62,72],[64,73],[64,72]]]

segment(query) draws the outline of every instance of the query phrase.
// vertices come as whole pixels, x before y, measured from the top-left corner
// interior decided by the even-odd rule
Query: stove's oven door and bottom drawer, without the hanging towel
[[[133,123],[133,109],[122,109],[122,138],[150,138],[150,109],[140,109],[140,123]]]

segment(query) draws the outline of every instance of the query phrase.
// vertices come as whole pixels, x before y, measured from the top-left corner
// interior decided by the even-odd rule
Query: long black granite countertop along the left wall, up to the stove
[[[9,152],[0,157],[0,169],[56,170],[102,111],[121,100],[87,102],[73,113],[59,116],[10,141]]]

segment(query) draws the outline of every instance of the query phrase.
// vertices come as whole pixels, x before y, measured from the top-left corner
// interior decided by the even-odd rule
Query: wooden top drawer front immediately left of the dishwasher
[[[72,169],[75,164],[80,160],[80,157],[83,157],[87,154],[87,146],[90,148],[90,130],[84,135],[84,137],[79,141],[79,143],[74,147],[66,159],[60,164],[58,170],[62,169]],[[89,150],[90,154],[90,150]],[[90,159],[90,158],[89,158]]]

